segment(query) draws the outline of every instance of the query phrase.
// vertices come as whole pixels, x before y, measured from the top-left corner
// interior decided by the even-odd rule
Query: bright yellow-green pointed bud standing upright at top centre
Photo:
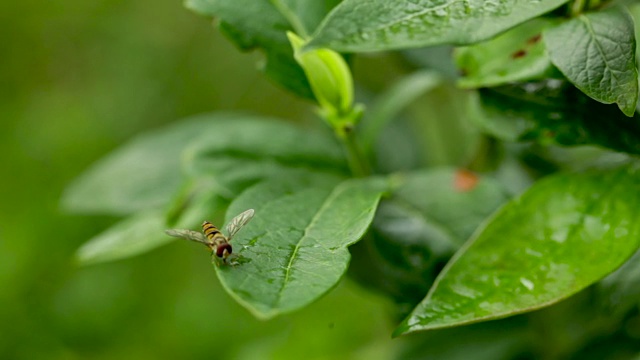
[[[339,53],[330,49],[301,51],[304,40],[292,32],[287,36],[322,113],[331,122],[344,119],[352,112],[353,106],[353,79],[347,63]]]

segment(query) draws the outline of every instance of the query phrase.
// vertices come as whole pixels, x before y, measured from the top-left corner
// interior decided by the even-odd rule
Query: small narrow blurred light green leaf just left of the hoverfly
[[[92,265],[139,255],[173,241],[163,233],[164,214],[133,215],[87,241],[76,253],[80,265]]]

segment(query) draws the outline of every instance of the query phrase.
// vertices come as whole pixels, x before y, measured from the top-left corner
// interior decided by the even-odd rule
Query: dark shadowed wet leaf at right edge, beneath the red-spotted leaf
[[[561,80],[503,86],[480,92],[485,131],[508,141],[564,146],[598,145],[640,154],[640,116],[590,99]]]

